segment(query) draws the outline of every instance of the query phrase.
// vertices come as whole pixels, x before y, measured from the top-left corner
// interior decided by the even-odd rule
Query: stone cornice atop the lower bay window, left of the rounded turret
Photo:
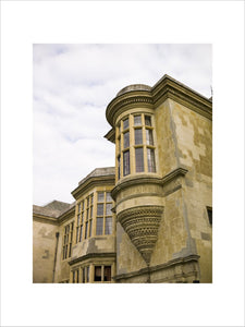
[[[72,191],[72,195],[75,199],[78,199],[84,193],[86,193],[89,189],[100,185],[113,185],[114,184],[114,174],[111,175],[101,175],[101,177],[90,177],[84,183],[78,185],[74,191]]]

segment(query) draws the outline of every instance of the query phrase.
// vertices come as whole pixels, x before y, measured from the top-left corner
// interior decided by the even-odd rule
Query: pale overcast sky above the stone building
[[[211,96],[210,45],[34,45],[34,204],[74,201],[97,167],[114,166],[107,105],[164,74]]]

